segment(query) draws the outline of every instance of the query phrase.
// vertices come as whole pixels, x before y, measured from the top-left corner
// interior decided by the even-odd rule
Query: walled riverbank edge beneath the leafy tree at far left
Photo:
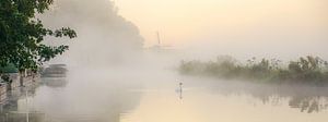
[[[38,87],[40,76],[28,74],[23,77],[19,73],[9,73],[8,82],[2,82],[0,86],[0,121],[1,122],[21,122],[25,121],[26,113],[20,113],[19,99],[33,96],[33,90]],[[38,119],[35,113],[28,113],[31,121]],[[42,122],[42,121],[35,121]]]

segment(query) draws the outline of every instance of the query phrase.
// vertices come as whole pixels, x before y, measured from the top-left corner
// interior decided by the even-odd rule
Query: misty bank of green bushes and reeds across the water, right
[[[218,57],[215,61],[181,61],[179,73],[219,78],[236,78],[268,83],[304,83],[324,85],[328,83],[328,62],[319,57],[301,57],[283,63],[278,59],[251,58],[241,63],[230,56]]]

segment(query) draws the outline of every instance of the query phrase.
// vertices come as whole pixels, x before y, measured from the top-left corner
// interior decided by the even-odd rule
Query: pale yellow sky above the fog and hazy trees
[[[328,28],[327,0],[116,0],[116,5],[139,27],[147,46],[156,42],[156,30],[164,44],[180,45],[267,27]]]

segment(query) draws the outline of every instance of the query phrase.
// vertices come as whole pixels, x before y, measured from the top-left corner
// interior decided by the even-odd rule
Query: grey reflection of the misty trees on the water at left
[[[130,87],[133,84],[90,75],[43,77],[28,87],[27,98],[26,88],[11,94],[0,122],[25,122],[26,111],[30,122],[119,122],[120,113],[139,101],[139,93],[128,91]]]

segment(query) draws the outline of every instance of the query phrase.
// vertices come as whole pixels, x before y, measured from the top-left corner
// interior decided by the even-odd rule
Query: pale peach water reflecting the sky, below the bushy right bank
[[[327,89],[245,82],[184,80],[174,88],[143,90],[140,105],[121,122],[326,122]],[[176,83],[172,82],[176,87]],[[149,87],[150,88],[150,87]]]

